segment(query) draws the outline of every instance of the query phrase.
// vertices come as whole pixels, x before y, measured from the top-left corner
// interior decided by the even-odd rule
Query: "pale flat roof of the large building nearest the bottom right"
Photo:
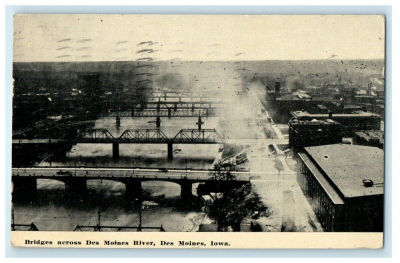
[[[304,149],[344,198],[383,194],[382,149],[349,144]],[[371,180],[373,184],[367,187],[365,180]]]

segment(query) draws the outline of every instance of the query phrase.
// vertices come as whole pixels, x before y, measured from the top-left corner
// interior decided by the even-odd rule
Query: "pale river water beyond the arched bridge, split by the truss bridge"
[[[114,137],[126,129],[155,128],[152,117],[121,117],[116,127],[115,117],[97,119],[94,128],[106,128]],[[221,132],[217,117],[204,117],[202,128],[215,128]],[[197,117],[161,117],[160,130],[168,137],[175,136],[180,129],[197,128]],[[111,144],[73,145],[66,158],[49,157],[39,166],[115,166],[115,167],[168,167],[209,168],[218,152],[219,144],[174,144],[173,160],[167,160],[166,144],[119,144],[119,160],[112,160]]]

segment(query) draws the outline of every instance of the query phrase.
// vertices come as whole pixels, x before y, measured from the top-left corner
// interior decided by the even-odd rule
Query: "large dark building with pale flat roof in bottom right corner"
[[[325,231],[383,230],[383,150],[331,144],[298,156],[297,183]]]

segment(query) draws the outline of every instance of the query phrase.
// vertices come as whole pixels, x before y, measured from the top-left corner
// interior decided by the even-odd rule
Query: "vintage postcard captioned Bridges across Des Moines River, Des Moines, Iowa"
[[[384,46],[381,15],[15,14],[12,245],[381,248]]]

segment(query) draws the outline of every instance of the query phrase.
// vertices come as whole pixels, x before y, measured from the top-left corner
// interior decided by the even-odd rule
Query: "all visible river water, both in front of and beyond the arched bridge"
[[[126,129],[155,128],[155,118],[121,117],[116,127],[115,117],[103,117],[95,121],[95,128],[106,128],[114,137]],[[204,117],[202,128],[220,130],[217,117]],[[167,136],[175,136],[182,128],[197,128],[197,117],[161,118],[160,130]],[[218,144],[173,145],[173,160],[167,160],[166,144],[120,144],[120,159],[112,160],[111,144],[77,144],[66,157],[53,157],[41,161],[39,166],[124,166],[131,167],[179,167],[208,168],[218,152]],[[89,196],[80,202],[66,201],[64,184],[55,180],[37,180],[37,196],[25,203],[14,203],[16,223],[33,222],[39,230],[72,231],[77,224],[95,225],[100,211],[102,225],[137,226],[137,208],[127,207],[124,201],[124,184],[116,181],[90,180]],[[142,226],[160,226],[166,231],[195,231],[201,222],[210,222],[200,207],[183,207],[180,202],[180,186],[171,182],[146,181],[142,183],[144,204]],[[192,193],[196,194],[196,184]],[[86,228],[86,230],[92,230]],[[103,230],[107,230],[104,228]],[[108,229],[109,230],[109,229]]]

